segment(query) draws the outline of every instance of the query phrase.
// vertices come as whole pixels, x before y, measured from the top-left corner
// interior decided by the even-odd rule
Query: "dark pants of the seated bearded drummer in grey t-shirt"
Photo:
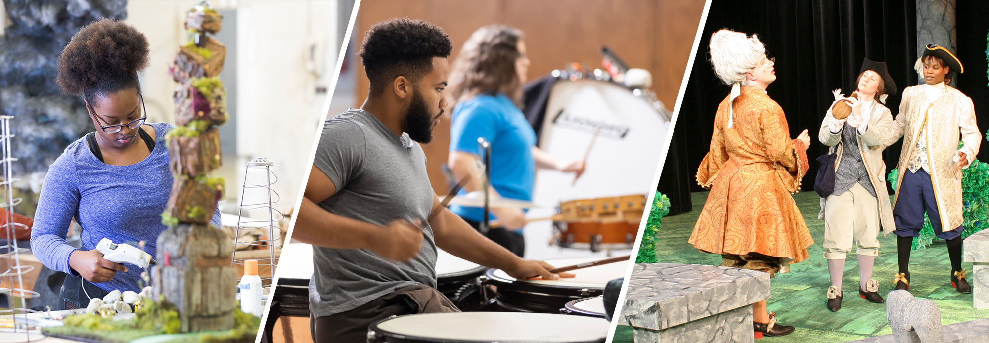
[[[310,314],[310,332],[316,343],[365,343],[368,326],[393,315],[459,312],[446,296],[425,285],[409,286],[357,308],[320,317]]]

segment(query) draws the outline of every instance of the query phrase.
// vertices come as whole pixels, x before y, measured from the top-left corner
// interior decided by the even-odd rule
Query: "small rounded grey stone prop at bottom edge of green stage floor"
[[[886,296],[886,320],[896,343],[944,343],[941,310],[934,300],[898,290]]]

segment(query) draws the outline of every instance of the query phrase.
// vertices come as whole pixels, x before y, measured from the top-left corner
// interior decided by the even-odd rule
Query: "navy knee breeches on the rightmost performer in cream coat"
[[[942,231],[941,215],[938,203],[934,197],[934,186],[931,184],[931,174],[923,168],[917,173],[903,170],[903,181],[896,196],[896,207],[893,208],[893,218],[896,221],[896,235],[900,237],[916,237],[924,228],[924,213],[931,218],[931,226],[938,238],[949,240],[961,235],[964,227],[958,226],[949,231]]]

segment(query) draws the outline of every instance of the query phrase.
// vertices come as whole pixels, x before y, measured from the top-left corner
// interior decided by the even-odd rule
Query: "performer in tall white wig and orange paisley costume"
[[[722,266],[774,277],[806,259],[814,244],[791,196],[807,172],[810,137],[804,130],[790,139],[782,108],[766,95],[775,63],[756,35],[718,31],[710,55],[714,73],[732,91],[718,106],[711,149],[697,168],[697,183],[711,192],[689,243],[721,254]],[[765,300],[753,304],[757,335],[793,332],[773,315]]]

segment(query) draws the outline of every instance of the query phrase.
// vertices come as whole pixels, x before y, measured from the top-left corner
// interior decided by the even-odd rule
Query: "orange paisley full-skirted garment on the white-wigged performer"
[[[783,109],[758,88],[742,86],[733,128],[728,106],[729,98],[718,106],[711,149],[697,168],[710,193],[688,242],[716,254],[803,261],[814,239],[791,196],[807,173],[803,142],[789,138]]]

